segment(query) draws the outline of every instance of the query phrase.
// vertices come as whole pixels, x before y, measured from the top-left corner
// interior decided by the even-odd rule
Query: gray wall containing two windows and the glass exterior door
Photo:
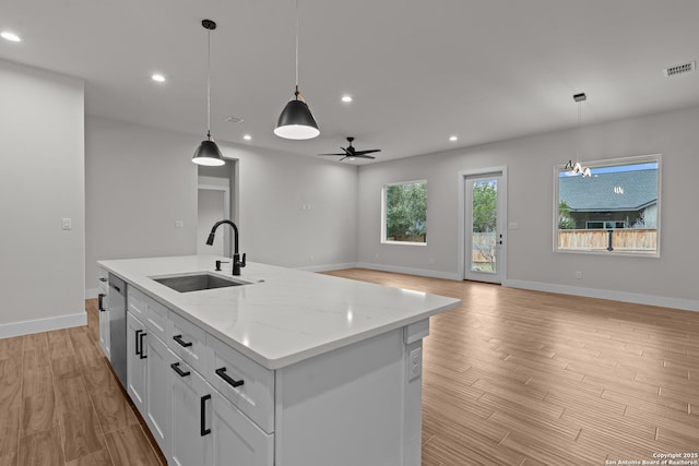
[[[582,130],[582,160],[663,154],[660,259],[552,251],[553,167],[574,158],[571,130],[360,167],[358,262],[460,278],[458,174],[507,166],[508,222],[519,227],[508,231],[506,285],[699,310],[698,124],[699,108],[690,108]],[[381,244],[382,186],[425,178],[427,246]]]

